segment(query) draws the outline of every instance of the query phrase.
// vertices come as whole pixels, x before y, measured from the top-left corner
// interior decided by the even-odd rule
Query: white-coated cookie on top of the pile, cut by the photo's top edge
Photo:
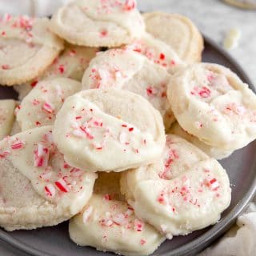
[[[145,31],[136,0],[79,0],[60,8],[51,30],[78,46],[120,46]]]

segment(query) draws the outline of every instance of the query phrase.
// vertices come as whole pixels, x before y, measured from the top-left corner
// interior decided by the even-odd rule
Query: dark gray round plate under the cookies
[[[240,78],[251,86],[249,78],[234,59],[224,50],[206,38],[203,53],[205,62],[215,62],[230,67]],[[251,87],[252,88],[252,87]],[[253,88],[252,88],[253,89]],[[0,87],[0,98],[14,98],[13,90]],[[177,237],[166,241],[154,253],[154,256],[193,255],[209,246],[234,223],[246,204],[254,196],[256,190],[256,142],[242,150],[236,151],[230,158],[222,161],[232,184],[232,202],[222,214],[221,220],[214,226],[196,231],[185,237]],[[68,222],[61,225],[32,231],[14,231],[6,233],[0,230],[0,238],[9,243],[17,251],[17,255],[37,256],[96,256],[114,255],[97,252],[90,247],[78,247],[69,239]],[[22,253],[23,252],[23,253]]]

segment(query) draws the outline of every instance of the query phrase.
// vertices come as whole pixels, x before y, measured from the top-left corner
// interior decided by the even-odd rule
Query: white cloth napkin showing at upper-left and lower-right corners
[[[0,0],[0,15],[28,14],[47,16],[71,0]],[[256,202],[256,201],[255,201]],[[250,203],[237,224],[223,237],[198,256],[254,256],[256,255],[256,205]]]

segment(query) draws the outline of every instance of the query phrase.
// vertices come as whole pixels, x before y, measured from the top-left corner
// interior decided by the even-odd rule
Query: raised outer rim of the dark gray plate
[[[243,70],[242,66],[238,64],[237,60],[235,60],[222,46],[219,46],[217,42],[214,42],[213,39],[203,34],[204,41],[213,46],[220,54],[222,54],[232,65],[242,74],[242,80],[246,82],[250,90],[253,90],[256,94],[256,90],[253,86],[251,79],[249,78],[248,74]],[[191,242],[187,242],[184,246],[178,247],[177,249],[171,250],[166,254],[166,256],[186,256],[198,253],[199,251],[205,249],[209,246],[212,242],[218,239],[223,233],[230,229],[235,222],[235,219],[238,218],[238,215],[242,213],[245,209],[247,204],[254,198],[256,195],[256,174],[254,180],[251,183],[251,186],[248,188],[246,194],[243,196],[242,200],[238,202],[236,206],[230,211],[229,214],[220,222],[216,223],[210,230],[207,230],[206,233],[200,235],[198,238],[195,238]],[[31,256],[54,256],[51,253],[35,249],[33,246],[29,246],[24,242],[18,241],[17,238],[13,238],[11,233],[6,232],[5,230],[0,230],[0,240],[13,246],[16,250],[21,250],[22,253],[26,253]]]

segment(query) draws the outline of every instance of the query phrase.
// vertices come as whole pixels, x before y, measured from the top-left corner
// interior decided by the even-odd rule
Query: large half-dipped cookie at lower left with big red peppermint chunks
[[[57,225],[92,195],[97,174],[69,166],[51,130],[44,126],[0,142],[0,226],[6,230]]]

